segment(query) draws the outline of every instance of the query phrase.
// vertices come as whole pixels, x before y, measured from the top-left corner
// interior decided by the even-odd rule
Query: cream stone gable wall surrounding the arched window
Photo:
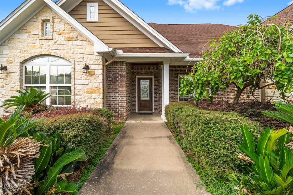
[[[51,22],[50,37],[42,35],[44,20]],[[0,45],[0,64],[8,67],[0,75],[0,104],[23,88],[23,63],[42,55],[71,62],[72,104],[103,107],[103,58],[93,53],[92,42],[47,6]],[[82,73],[85,63],[90,66],[88,74]]]

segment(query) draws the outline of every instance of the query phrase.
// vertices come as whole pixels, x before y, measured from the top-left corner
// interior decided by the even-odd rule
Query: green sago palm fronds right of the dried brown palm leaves
[[[35,187],[34,194],[62,194],[74,192],[78,188],[77,183],[68,182],[66,176],[73,172],[76,161],[87,159],[85,152],[79,149],[62,148],[59,136],[46,138],[39,134],[34,137],[47,146],[40,149],[40,157],[35,159]]]

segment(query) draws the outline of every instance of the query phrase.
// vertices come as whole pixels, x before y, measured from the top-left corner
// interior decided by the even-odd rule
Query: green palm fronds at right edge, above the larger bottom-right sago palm
[[[272,102],[275,106],[274,108],[278,111],[262,111],[261,113],[267,115],[269,117],[274,117],[276,119],[280,119],[282,121],[287,122],[290,125],[293,125],[293,104],[289,102]]]

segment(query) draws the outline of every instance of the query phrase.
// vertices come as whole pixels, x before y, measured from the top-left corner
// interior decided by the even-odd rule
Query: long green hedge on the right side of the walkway
[[[165,108],[170,130],[182,139],[188,150],[214,177],[227,177],[244,163],[237,158],[243,141],[241,125],[248,125],[255,139],[263,128],[257,122],[234,112],[199,110],[187,103]]]

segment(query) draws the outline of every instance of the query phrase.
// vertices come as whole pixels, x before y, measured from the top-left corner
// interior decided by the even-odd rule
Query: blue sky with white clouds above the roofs
[[[24,0],[0,0],[0,21]],[[56,0],[55,0],[56,1]],[[221,23],[239,25],[249,14],[266,17],[281,11],[291,0],[120,0],[146,22]],[[291,2],[290,2],[291,1]]]

